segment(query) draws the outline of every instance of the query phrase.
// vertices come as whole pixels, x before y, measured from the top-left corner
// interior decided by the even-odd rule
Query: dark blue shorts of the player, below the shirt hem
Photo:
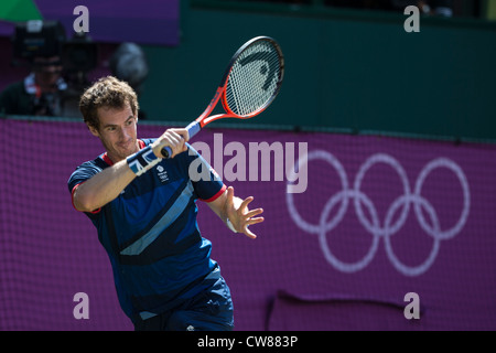
[[[181,306],[134,322],[136,331],[231,331],[233,300],[224,278]]]

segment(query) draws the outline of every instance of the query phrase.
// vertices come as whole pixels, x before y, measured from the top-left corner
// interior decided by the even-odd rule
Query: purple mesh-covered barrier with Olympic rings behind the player
[[[140,125],[139,136],[163,129]],[[496,329],[494,146],[234,129],[192,142],[265,210],[251,240],[198,202],[236,330]],[[100,152],[82,122],[0,120],[0,330],[132,329],[66,185]],[[74,317],[78,292],[89,319]],[[420,297],[414,322],[408,292]]]

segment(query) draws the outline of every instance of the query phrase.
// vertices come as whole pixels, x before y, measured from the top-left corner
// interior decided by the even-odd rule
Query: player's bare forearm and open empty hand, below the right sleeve
[[[256,217],[263,212],[262,208],[249,211],[248,204],[254,201],[254,196],[241,200],[234,194],[234,188],[229,186],[215,201],[209,202],[208,206],[224,221],[230,221],[236,232],[244,233],[248,237],[255,239],[257,237],[248,226],[263,222],[263,217]]]

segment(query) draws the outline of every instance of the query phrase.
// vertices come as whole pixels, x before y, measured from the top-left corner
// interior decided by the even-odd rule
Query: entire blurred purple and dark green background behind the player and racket
[[[230,56],[258,35],[284,53],[280,95],[262,115],[215,122],[197,140],[306,142],[315,153],[309,191],[294,199],[285,181],[233,182],[266,210],[256,242],[219,229],[198,205],[236,328],[496,329],[496,0],[86,0],[88,32],[76,32],[80,4],[0,4],[0,329],[131,329],[96,232],[66,190],[74,168],[103,150],[78,97],[116,75],[139,94],[140,135],[159,136],[203,113]],[[420,10],[420,32],[405,30],[408,6]],[[339,171],[352,188],[365,165],[371,221],[349,203],[332,228]],[[423,211],[391,206],[416,185],[423,201],[402,202]],[[405,221],[393,245],[392,220]],[[360,266],[336,266],[364,254]],[[89,320],[72,314],[79,291]],[[402,312],[411,291],[417,322]]]

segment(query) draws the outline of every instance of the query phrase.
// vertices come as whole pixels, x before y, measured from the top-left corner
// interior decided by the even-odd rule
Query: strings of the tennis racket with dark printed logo
[[[236,60],[226,88],[226,103],[236,115],[247,116],[270,104],[277,94],[281,64],[268,41],[248,46]]]

